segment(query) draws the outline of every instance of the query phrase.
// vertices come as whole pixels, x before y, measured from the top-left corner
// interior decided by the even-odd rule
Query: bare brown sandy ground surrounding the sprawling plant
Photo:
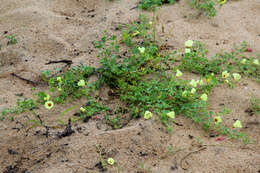
[[[19,93],[24,97],[33,94],[32,85],[11,73],[37,81],[42,70],[63,67],[46,65],[50,60],[68,59],[73,65],[99,66],[92,42],[100,39],[105,29],[119,34],[115,31],[117,24],[128,23],[142,12],[132,9],[137,0],[0,1],[0,110],[14,105]],[[167,40],[169,45],[182,49],[187,39],[200,40],[210,55],[221,49],[229,51],[234,43],[247,41],[252,56],[259,53],[260,1],[228,1],[217,10],[217,16],[209,19],[203,15],[197,17],[196,10],[191,10],[185,0],[160,8],[156,12],[159,41]],[[16,34],[18,43],[6,46],[5,33]],[[107,95],[106,90],[103,92]],[[43,136],[42,128],[23,128],[27,113],[18,115],[15,121],[0,121],[0,172],[102,172],[98,167],[97,148],[100,148],[104,158],[113,157],[116,161],[114,166],[107,167],[106,172],[111,173],[257,173],[260,172],[260,117],[245,112],[252,94],[260,97],[259,83],[243,79],[235,89],[216,88],[209,97],[211,110],[220,111],[223,105],[231,110],[225,117],[227,125],[233,119],[245,124],[241,131],[255,140],[247,146],[237,140],[216,141],[214,134],[209,137],[209,133],[181,116],[176,121],[182,126],[174,125],[172,134],[167,134],[156,118],[133,120],[123,129],[111,131],[105,131],[103,121],[90,120],[73,124],[76,131],[73,135],[57,139],[54,135]],[[50,112],[42,110],[41,116],[51,124],[72,104],[80,105],[67,103]],[[53,129],[51,133],[62,130]]]

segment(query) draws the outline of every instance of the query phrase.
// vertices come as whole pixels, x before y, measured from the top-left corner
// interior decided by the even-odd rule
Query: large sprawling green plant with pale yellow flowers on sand
[[[102,39],[94,43],[99,49],[101,66],[77,66],[55,77],[44,73],[43,79],[48,82],[52,95],[37,93],[37,103],[52,109],[53,104],[64,103],[68,98],[85,97],[88,101],[74,114],[73,120],[86,121],[102,114],[113,128],[120,128],[121,114],[100,102],[98,91],[106,86],[121,102],[123,113],[132,118],[149,119],[155,114],[171,131],[175,115],[184,115],[205,130],[215,129],[248,142],[245,134],[221,124],[218,113],[208,110],[207,100],[214,87],[225,83],[233,87],[241,75],[259,78],[259,58],[243,55],[248,47],[246,43],[235,47],[231,53],[219,53],[212,58],[206,57],[207,50],[200,42],[193,44],[191,40],[185,43],[184,53],[169,53],[156,42],[154,26],[146,17],[140,16],[126,25],[120,38],[105,32]],[[196,73],[200,79],[183,80],[181,71]],[[97,79],[90,82],[93,75]],[[34,104],[29,105],[25,108],[34,108]],[[109,117],[112,114],[116,116]],[[241,122],[236,122],[234,127],[240,128]]]

